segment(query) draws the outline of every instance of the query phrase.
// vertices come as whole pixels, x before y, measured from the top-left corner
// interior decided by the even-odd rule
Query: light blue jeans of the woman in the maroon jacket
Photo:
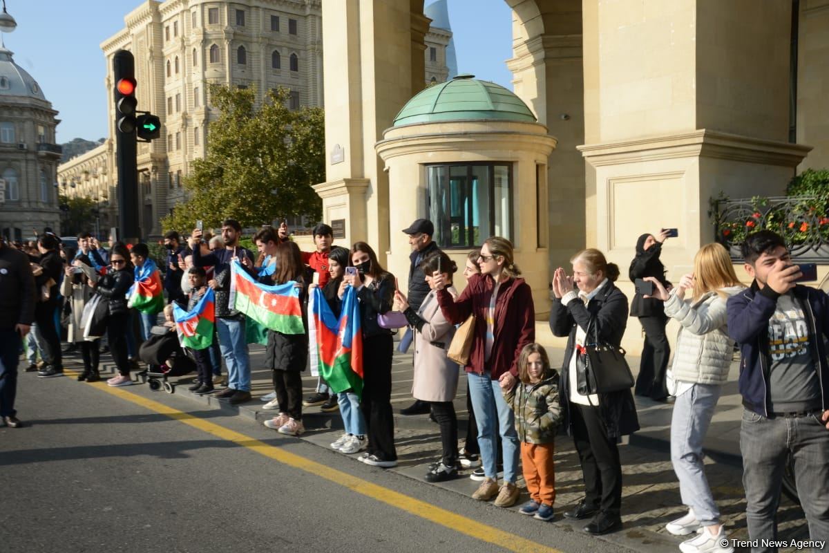
[[[478,424],[478,445],[481,448],[483,472],[497,479],[497,434],[501,434],[504,482],[515,483],[518,473],[518,434],[515,417],[504,400],[501,386],[489,375],[467,373],[468,394],[472,397],[475,422]]]

